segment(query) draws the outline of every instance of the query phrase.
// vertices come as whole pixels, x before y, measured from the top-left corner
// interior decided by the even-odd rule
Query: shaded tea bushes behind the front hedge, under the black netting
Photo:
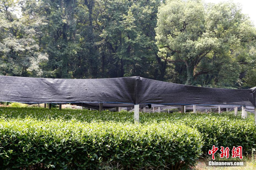
[[[117,122],[133,123],[133,113],[109,112],[77,109],[43,109],[43,108],[1,108],[0,115],[4,118],[27,118],[33,117],[38,120],[45,119],[76,119],[82,122]],[[197,129],[203,137],[203,152],[207,152],[212,145],[216,146],[243,146],[245,152],[255,148],[256,127],[254,115],[248,112],[248,118],[243,119],[241,112],[234,116],[233,112],[228,113],[165,113],[158,114],[140,113],[140,123],[173,122],[182,123]]]

